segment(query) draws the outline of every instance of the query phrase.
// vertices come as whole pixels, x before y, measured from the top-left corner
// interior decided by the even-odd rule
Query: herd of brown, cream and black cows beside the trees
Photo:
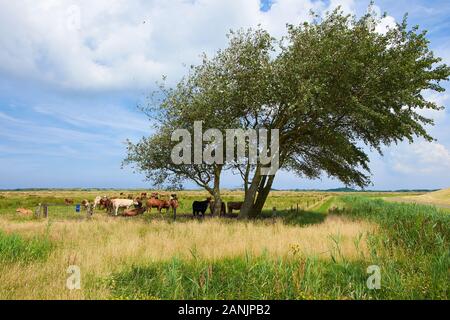
[[[73,200],[65,199],[67,205],[73,204]],[[226,208],[228,208],[228,213],[233,213],[233,210],[240,210],[243,202],[228,202],[225,205],[222,202],[220,215],[225,215],[227,213]],[[156,192],[151,193],[150,197],[147,197],[147,193],[141,193],[139,196],[134,197],[133,195],[128,195],[126,198],[124,194],[121,193],[120,197],[109,198],[107,196],[98,196],[95,198],[94,202],[91,204],[88,200],[83,200],[81,205],[85,209],[101,209],[106,210],[109,214],[118,215],[120,209],[124,209],[122,212],[123,216],[137,216],[144,214],[145,212],[150,212],[153,208],[156,208],[159,213],[162,209],[166,209],[166,213],[171,209],[174,214],[179,207],[179,201],[176,194],[171,194],[168,199],[160,198],[160,195]],[[205,201],[194,201],[192,203],[192,213],[195,216],[204,216],[207,209],[210,208],[211,213],[213,213],[214,201],[211,197],[208,197]]]

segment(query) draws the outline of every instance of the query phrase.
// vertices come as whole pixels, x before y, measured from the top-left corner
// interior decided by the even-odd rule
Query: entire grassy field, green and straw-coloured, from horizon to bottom
[[[271,193],[263,217],[193,219],[206,194],[179,192],[168,214],[92,218],[63,206],[121,191],[0,193],[0,298],[3,299],[448,299],[450,215],[390,203],[386,193]],[[123,191],[138,194],[141,191]],[[168,194],[168,193],[167,193]],[[406,196],[417,196],[409,194]],[[225,201],[238,201],[225,191]],[[60,204],[49,218],[18,207]],[[297,205],[299,210],[297,211]],[[273,208],[276,212],[273,212]],[[292,210],[293,209],[293,210]],[[81,270],[68,290],[67,268]],[[367,267],[381,289],[367,288]]]

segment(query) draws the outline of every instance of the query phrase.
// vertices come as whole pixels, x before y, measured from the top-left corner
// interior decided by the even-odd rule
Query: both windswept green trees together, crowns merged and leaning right
[[[278,129],[280,168],[304,178],[327,174],[346,185],[369,185],[365,147],[381,154],[382,146],[400,141],[431,141],[426,126],[433,121],[421,110],[440,107],[424,92],[444,91],[440,82],[450,75],[430,51],[426,32],[408,29],[406,18],[385,33],[376,32],[378,23],[370,11],[357,19],[336,9],[311,23],[289,25],[278,42],[260,29],[232,33],[227,49],[192,68],[157,104],[155,114],[164,120],[149,139],[163,135],[168,144],[130,143],[127,162],[156,182],[168,176],[196,181],[202,172],[214,181],[216,200],[222,170],[237,170],[245,187],[241,217],[257,216],[276,174],[263,175],[266,165],[247,158],[183,165],[180,172],[158,160],[170,157],[173,129],[191,129],[202,120],[205,129]],[[164,155],[154,157],[153,148]]]

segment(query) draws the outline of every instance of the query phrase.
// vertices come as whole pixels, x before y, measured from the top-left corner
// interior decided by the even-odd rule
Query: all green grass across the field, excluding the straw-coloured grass
[[[102,194],[102,192],[100,192]],[[326,196],[329,198],[325,199]],[[276,216],[286,224],[305,226],[323,222],[329,212],[356,221],[371,221],[378,228],[368,236],[369,254],[362,250],[357,260],[347,261],[340,254],[339,235],[331,260],[302,256],[292,249],[287,258],[269,255],[238,256],[216,261],[173,258],[148,262],[97,279],[88,286],[107,285],[111,298],[119,299],[443,299],[450,298],[450,215],[433,206],[391,203],[374,194],[273,193],[261,219]],[[385,195],[383,195],[385,196]],[[64,202],[63,195],[53,197],[0,197],[0,214],[20,217],[18,207],[34,209],[38,203]],[[70,196],[67,196],[70,197]],[[77,194],[75,202],[92,195]],[[224,201],[240,201],[239,194],[226,194]],[[179,213],[190,213],[193,200],[200,193],[181,194]],[[296,207],[299,204],[299,212]],[[61,211],[51,207],[50,217],[71,219],[73,207]],[[290,210],[293,208],[294,210]],[[167,216],[169,219],[170,217]],[[189,219],[190,217],[186,217]],[[161,219],[159,215],[139,217],[144,223]],[[170,220],[170,219],[169,219]],[[181,223],[183,220],[177,220]],[[224,220],[233,223],[233,219]],[[253,223],[254,221],[249,221]],[[230,243],[230,245],[233,245]],[[355,241],[355,247],[358,247]],[[54,245],[45,235],[24,238],[0,231],[0,264],[44,261]],[[381,289],[366,287],[367,267],[381,269]],[[95,298],[95,297],[94,297]]]

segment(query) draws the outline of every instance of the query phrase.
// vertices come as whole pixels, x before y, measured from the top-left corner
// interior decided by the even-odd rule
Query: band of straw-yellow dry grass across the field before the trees
[[[266,252],[290,257],[293,251],[329,259],[339,239],[342,256],[356,259],[367,253],[365,241],[355,241],[374,225],[330,216],[308,227],[286,225],[281,220],[242,222],[206,219],[168,223],[98,215],[92,220],[11,222],[0,219],[0,229],[25,237],[48,232],[57,248],[44,263],[0,266],[0,298],[83,299],[107,298],[108,289],[93,279],[108,276],[131,264],[181,259],[216,260]],[[333,241],[333,239],[335,239]],[[65,287],[66,269],[78,265],[83,290]]]

